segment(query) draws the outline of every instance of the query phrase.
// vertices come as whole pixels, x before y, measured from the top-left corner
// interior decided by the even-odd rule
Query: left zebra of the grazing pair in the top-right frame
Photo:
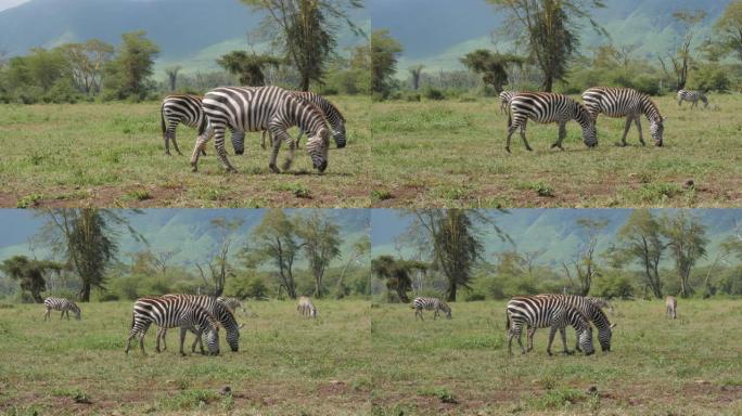
[[[583,141],[589,147],[598,144],[596,125],[590,113],[583,104],[562,94],[551,92],[522,92],[510,100],[510,114],[508,115],[508,140],[506,151],[510,153],[510,138],[515,130],[521,129],[521,139],[528,151],[533,151],[525,138],[525,129],[528,119],[536,122],[558,122],[559,140],[551,148],[562,147],[562,141],[566,136],[566,123],[576,120],[583,128]]]

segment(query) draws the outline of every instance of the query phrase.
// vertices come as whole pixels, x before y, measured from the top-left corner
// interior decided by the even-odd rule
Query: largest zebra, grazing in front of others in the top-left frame
[[[322,112],[314,104],[297,99],[291,92],[279,87],[223,87],[216,88],[204,95],[203,107],[208,118],[207,126],[202,125],[199,140],[191,155],[193,171],[197,170],[199,152],[206,142],[215,136],[215,146],[222,165],[228,171],[236,171],[225,152],[225,130],[231,128],[239,131],[269,130],[276,139],[270,157],[270,169],[278,173],[276,166],[281,142],[289,145],[289,157],[283,170],[291,167],[294,157],[294,141],[286,129],[298,126],[307,132],[307,153],[312,165],[320,172],[328,167],[328,148],[330,146],[330,129],[325,125]]]

